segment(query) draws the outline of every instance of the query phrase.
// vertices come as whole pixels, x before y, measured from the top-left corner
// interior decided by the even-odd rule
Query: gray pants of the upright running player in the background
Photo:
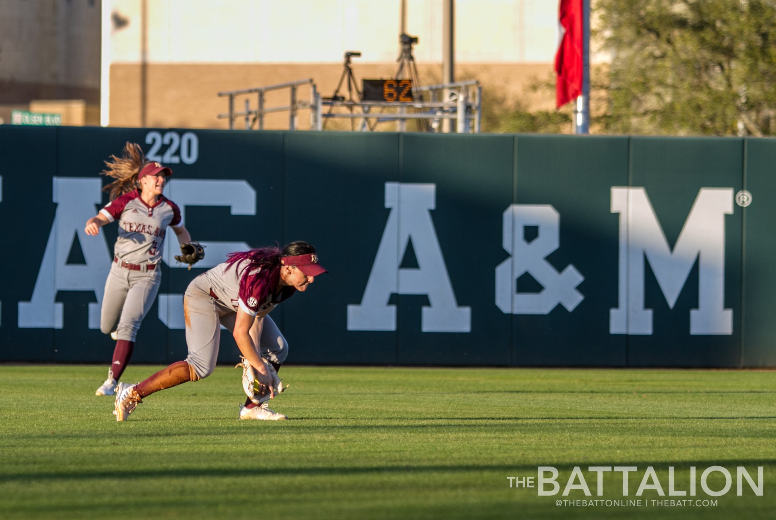
[[[102,296],[99,328],[110,334],[116,327],[119,339],[135,341],[140,323],[151,309],[161,284],[161,269],[131,271],[112,262]]]

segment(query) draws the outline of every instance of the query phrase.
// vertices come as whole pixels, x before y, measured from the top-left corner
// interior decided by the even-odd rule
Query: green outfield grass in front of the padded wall
[[[130,366],[123,380],[158,367]],[[774,518],[776,373],[616,369],[284,367],[291,420],[238,421],[240,373],[147,397],[126,423],[95,397],[102,366],[0,366],[0,518]],[[731,470],[708,497],[700,472]],[[539,496],[508,477],[581,466],[592,497]],[[637,466],[629,496],[622,473]],[[647,466],[698,496],[636,497]],[[743,484],[736,466],[764,496]],[[650,481],[651,482],[651,481]],[[724,485],[712,473],[712,490]],[[558,507],[558,499],[647,505]],[[713,499],[657,507],[656,499]]]

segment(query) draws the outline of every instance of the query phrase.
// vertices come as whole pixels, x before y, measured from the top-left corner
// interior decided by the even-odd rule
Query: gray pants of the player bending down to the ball
[[[220,325],[230,332],[234,331],[237,313],[224,309],[210,297],[210,285],[204,276],[198,276],[189,283],[183,296],[183,313],[186,345],[189,347],[186,362],[200,379],[210,376],[218,359]],[[288,343],[271,317],[255,320],[249,334],[256,352],[262,358],[277,364],[286,361]]]

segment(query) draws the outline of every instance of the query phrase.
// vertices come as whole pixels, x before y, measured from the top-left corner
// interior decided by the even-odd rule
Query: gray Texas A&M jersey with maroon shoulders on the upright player
[[[161,260],[167,227],[180,227],[181,211],[170,199],[159,196],[154,206],[135,189],[109,202],[100,213],[119,220],[119,237],[113,255],[130,264],[156,264]]]

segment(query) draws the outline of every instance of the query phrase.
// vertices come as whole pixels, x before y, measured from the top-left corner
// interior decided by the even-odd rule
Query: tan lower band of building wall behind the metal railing
[[[360,88],[362,78],[393,77],[396,64],[356,64],[354,71]],[[457,76],[479,79],[486,85],[486,100],[503,97],[513,102],[522,97],[529,105],[549,108],[552,99],[548,106],[548,100],[525,92],[525,87],[532,78],[546,78],[551,71],[551,64],[465,64],[459,66]],[[313,78],[320,94],[330,96],[341,72],[341,64],[114,64],[110,73],[110,125],[228,128],[227,120],[217,120],[217,115],[228,109],[227,98],[218,97],[218,92]],[[426,85],[442,77],[440,65],[419,66],[418,72]],[[347,95],[345,88],[341,93]],[[309,88],[300,88],[299,99],[309,99],[309,95]],[[269,93],[265,106],[288,105],[288,96],[288,90]],[[249,99],[251,109],[256,108],[255,95],[241,96],[237,98],[236,112],[244,109],[244,99]],[[309,114],[309,110],[300,111],[300,128],[309,127]],[[242,128],[242,120],[235,127]],[[265,119],[266,129],[288,127],[288,113],[270,114]]]

